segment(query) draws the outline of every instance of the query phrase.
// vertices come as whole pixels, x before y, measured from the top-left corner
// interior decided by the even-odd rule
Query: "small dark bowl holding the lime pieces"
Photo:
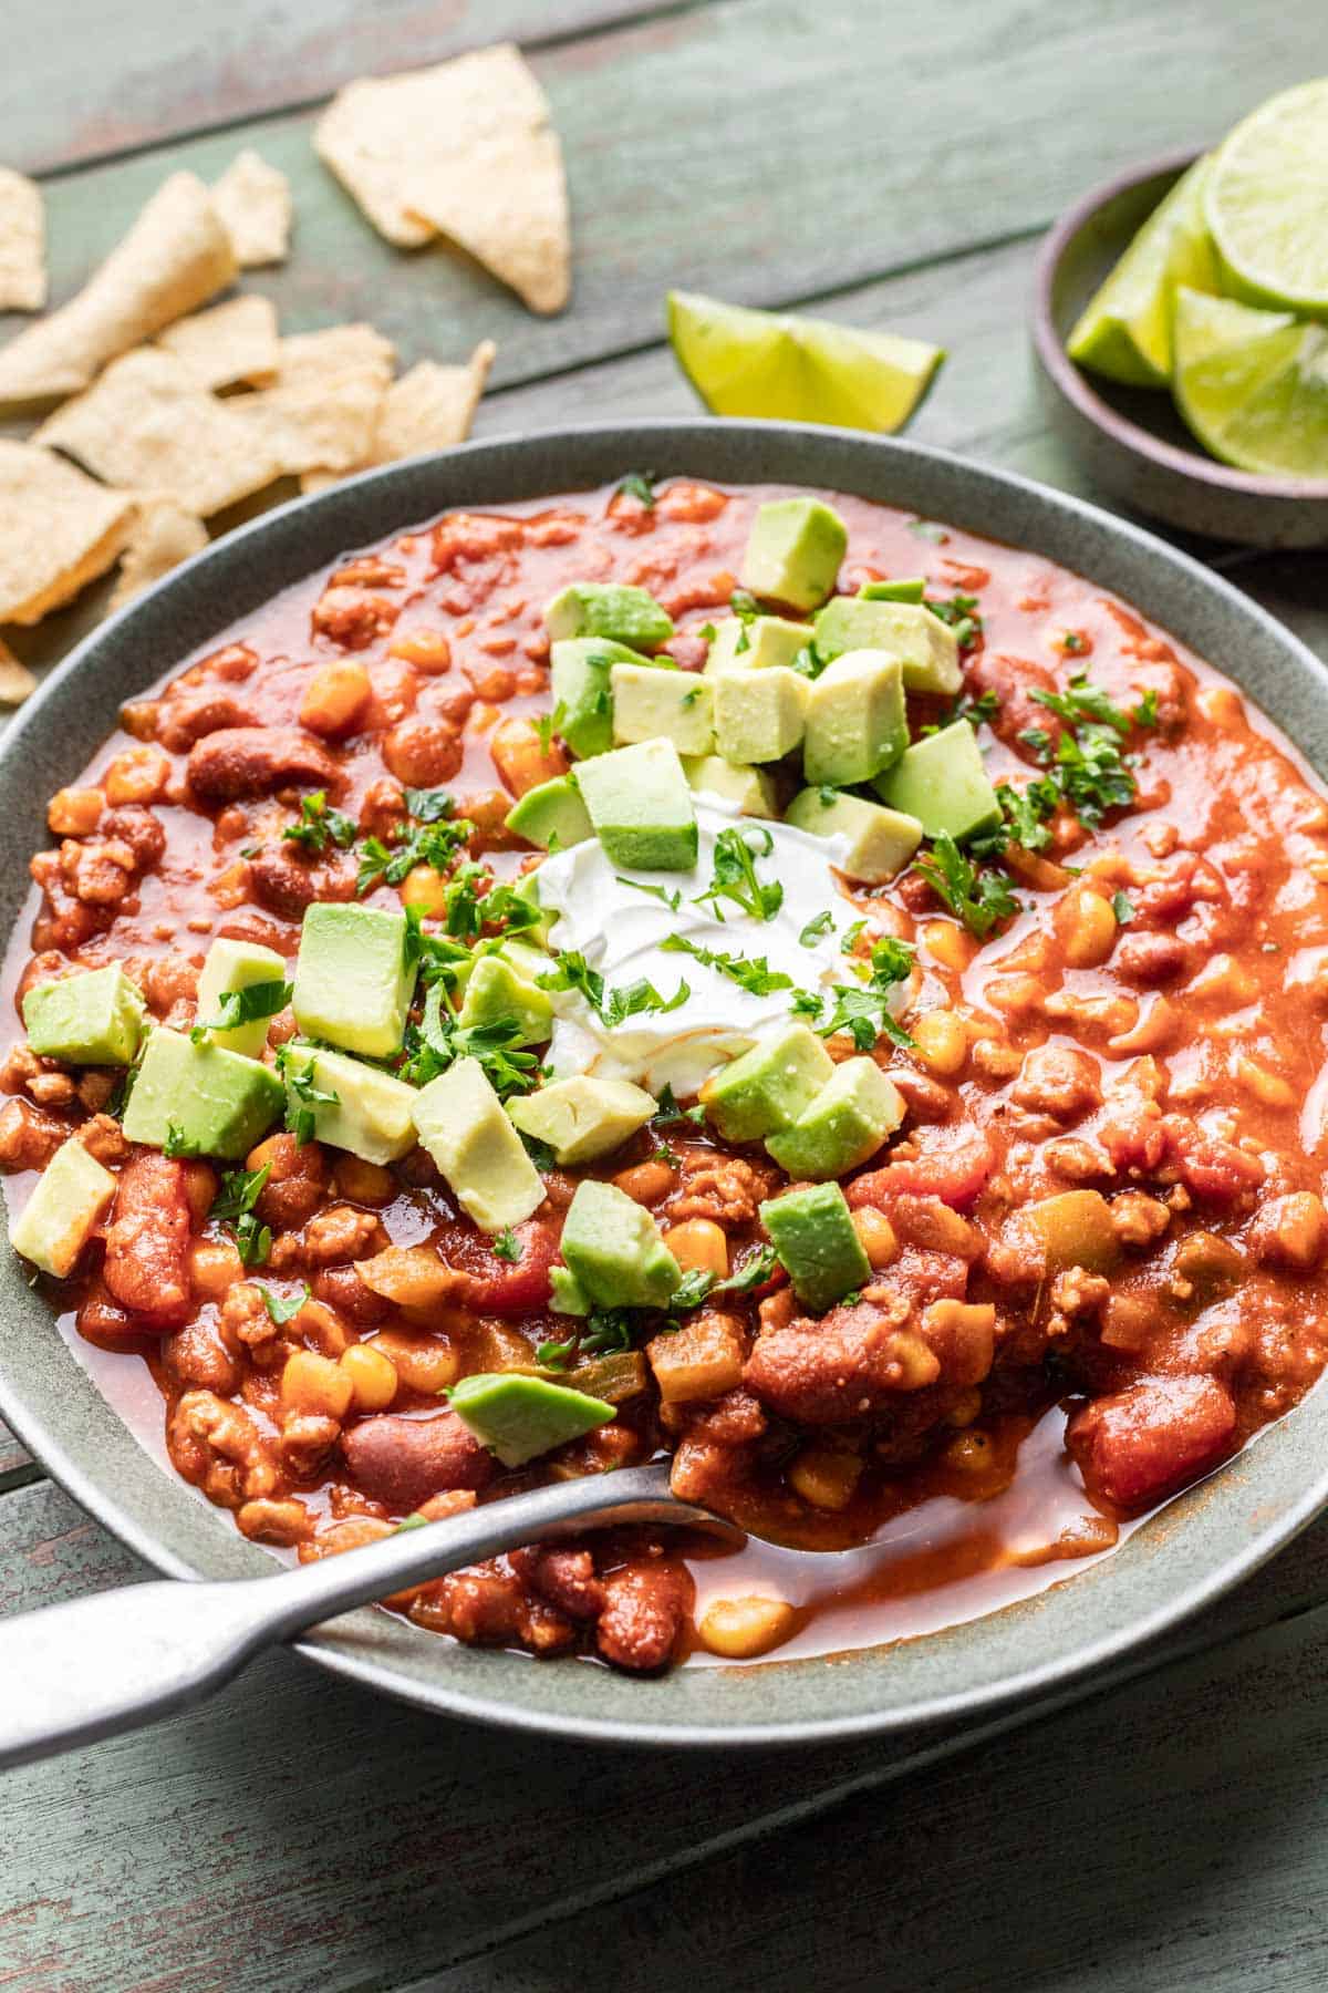
[[[1033,351],[1043,405],[1093,478],[1149,518],[1244,546],[1328,546],[1328,478],[1268,478],[1218,464],[1165,389],[1087,375],[1065,341],[1113,263],[1197,153],[1171,153],[1095,187],[1037,259]]]

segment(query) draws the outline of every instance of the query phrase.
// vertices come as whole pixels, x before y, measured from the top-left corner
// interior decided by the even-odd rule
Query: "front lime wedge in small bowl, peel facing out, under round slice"
[[[1240,470],[1328,476],[1328,329],[1181,287],[1173,337],[1177,407],[1207,450]]]

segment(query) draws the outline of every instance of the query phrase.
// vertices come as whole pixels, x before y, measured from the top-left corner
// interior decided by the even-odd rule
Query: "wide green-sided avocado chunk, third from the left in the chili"
[[[157,1024],[123,1114],[125,1140],[239,1162],[285,1106],[271,1066]]]

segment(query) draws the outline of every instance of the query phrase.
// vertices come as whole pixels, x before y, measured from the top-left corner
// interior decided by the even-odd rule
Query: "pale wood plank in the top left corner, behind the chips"
[[[4,155],[68,167],[331,96],[348,76],[442,62],[488,42],[542,44],[643,14],[651,0],[229,0],[223,8],[119,0],[10,0]]]

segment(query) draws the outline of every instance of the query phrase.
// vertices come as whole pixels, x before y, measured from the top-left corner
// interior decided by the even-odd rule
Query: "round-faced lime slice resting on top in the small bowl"
[[[1328,317],[1328,76],[1268,98],[1213,159],[1205,189],[1222,289]]]

